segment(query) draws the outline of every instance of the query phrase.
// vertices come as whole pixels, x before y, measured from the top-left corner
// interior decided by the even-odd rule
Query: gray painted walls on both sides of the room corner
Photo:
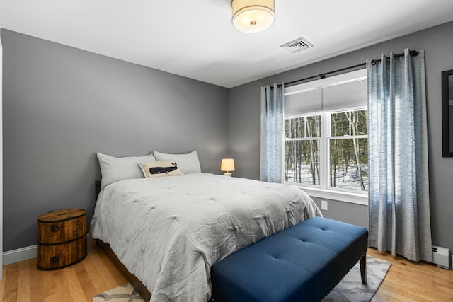
[[[205,172],[219,173],[220,158],[228,155],[235,176],[258,179],[260,86],[406,47],[425,50],[433,243],[453,250],[453,158],[442,158],[440,98],[440,73],[453,69],[452,33],[447,23],[228,90],[1,30],[4,250],[34,245],[36,216],[45,211],[81,207],[91,219],[93,181],[101,178],[96,151],[127,156],[196,149]],[[367,226],[365,206],[330,200],[323,214]]]

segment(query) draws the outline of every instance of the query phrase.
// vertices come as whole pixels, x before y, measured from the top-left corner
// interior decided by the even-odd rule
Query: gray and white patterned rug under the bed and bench
[[[323,302],[371,301],[379,285],[389,271],[390,262],[367,256],[367,284],[360,279],[360,265],[357,263],[331,291]],[[93,302],[144,302],[130,283],[110,289],[93,297]]]

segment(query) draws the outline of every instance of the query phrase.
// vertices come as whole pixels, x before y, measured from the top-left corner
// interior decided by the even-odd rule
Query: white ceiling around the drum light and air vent
[[[453,21],[452,0],[276,0],[262,33],[231,0],[0,0],[0,27],[226,88]],[[314,47],[280,48],[304,37]]]

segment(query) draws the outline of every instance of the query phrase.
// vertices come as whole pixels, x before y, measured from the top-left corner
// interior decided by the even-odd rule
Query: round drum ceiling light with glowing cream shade
[[[234,26],[244,33],[259,33],[274,23],[275,0],[233,0]]]

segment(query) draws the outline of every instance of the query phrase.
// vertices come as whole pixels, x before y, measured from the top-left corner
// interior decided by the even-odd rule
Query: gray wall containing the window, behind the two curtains
[[[432,242],[453,250],[453,158],[442,158],[441,123],[441,71],[453,69],[453,22],[231,88],[229,147],[236,161],[234,175],[259,178],[260,86],[304,79],[360,64],[366,59],[378,59],[381,54],[403,52],[405,48],[425,50]],[[303,56],[304,52],[294,55]],[[315,202],[321,206],[320,199],[315,198]],[[323,214],[367,226],[366,206],[329,201],[329,209]]]

